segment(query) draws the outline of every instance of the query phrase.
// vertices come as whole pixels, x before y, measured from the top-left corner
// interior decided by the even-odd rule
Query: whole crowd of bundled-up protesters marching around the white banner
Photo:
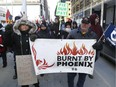
[[[81,24],[78,25],[76,21],[64,19],[59,21],[55,18],[54,22],[46,22],[42,20],[41,23],[33,23],[29,20],[15,17],[14,24],[8,24],[5,31],[2,31],[2,24],[0,24],[0,55],[3,59],[3,68],[7,66],[6,52],[14,53],[14,70],[15,75],[13,79],[17,79],[16,70],[16,55],[31,54],[29,47],[29,38],[35,41],[37,38],[46,39],[96,39],[102,36],[102,28],[99,24],[99,17],[97,14],[92,14],[89,18],[84,17]],[[102,49],[102,41],[93,44],[93,48],[99,52]],[[96,55],[96,60],[98,56]],[[74,78],[77,73],[68,73],[68,87],[74,87]],[[79,73],[77,87],[83,87],[87,74]],[[39,87],[39,82],[34,84]],[[22,87],[29,87],[29,85],[22,85]]]

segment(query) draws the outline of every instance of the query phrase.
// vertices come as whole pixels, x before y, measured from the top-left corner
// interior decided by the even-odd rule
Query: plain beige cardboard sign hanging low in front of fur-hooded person
[[[19,85],[37,83],[31,55],[16,56],[16,64]]]

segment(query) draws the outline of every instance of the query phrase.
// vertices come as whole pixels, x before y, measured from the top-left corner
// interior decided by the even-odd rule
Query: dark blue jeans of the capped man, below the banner
[[[87,74],[84,73],[78,73],[78,74],[79,74],[79,78],[77,82],[77,87],[83,87]],[[77,73],[68,73],[68,87],[74,87],[74,78],[76,75]]]

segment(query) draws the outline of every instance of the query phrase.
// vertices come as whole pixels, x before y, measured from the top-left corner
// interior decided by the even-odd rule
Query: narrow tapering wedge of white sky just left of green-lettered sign
[[[52,19],[54,19],[54,11],[55,11],[55,8],[56,8],[56,5],[57,5],[57,2],[59,0],[48,0],[48,6],[49,6],[49,9],[50,9],[50,16]]]

